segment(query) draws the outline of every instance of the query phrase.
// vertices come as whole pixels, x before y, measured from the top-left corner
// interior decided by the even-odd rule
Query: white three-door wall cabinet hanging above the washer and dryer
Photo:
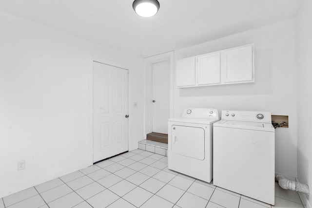
[[[176,61],[176,87],[254,82],[254,44]]]

